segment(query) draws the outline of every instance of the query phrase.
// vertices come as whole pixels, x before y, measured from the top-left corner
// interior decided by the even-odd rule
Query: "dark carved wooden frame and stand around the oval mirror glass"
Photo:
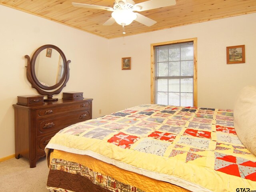
[[[58,51],[62,57],[63,65],[64,65],[64,72],[63,72],[62,78],[60,79],[60,81],[58,83],[56,83],[53,86],[44,86],[43,84],[41,84],[39,82],[39,80],[36,78],[36,73],[35,73],[36,58],[40,54],[40,52],[46,48],[52,48],[52,49]],[[26,66],[27,67],[27,78],[28,78],[28,81],[31,83],[32,88],[35,88],[38,91],[38,93],[40,93],[41,95],[47,95],[47,99],[44,99],[44,101],[58,100],[58,98],[52,98],[52,95],[59,94],[62,91],[62,89],[64,88],[64,86],[66,86],[66,83],[68,82],[68,79],[69,79],[68,65],[71,61],[70,60],[67,61],[66,56],[64,55],[62,50],[60,50],[60,48],[58,48],[55,45],[50,45],[50,44],[43,45],[40,48],[38,48],[34,52],[31,60],[28,55],[25,55],[25,58],[28,60],[28,65]],[[49,90],[49,91],[46,91],[46,90]]]

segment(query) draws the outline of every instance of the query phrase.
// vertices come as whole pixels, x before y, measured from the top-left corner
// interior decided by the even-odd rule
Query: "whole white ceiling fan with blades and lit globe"
[[[134,20],[146,26],[152,26],[156,23],[156,21],[137,12],[172,6],[175,4],[176,0],[149,0],[137,4],[135,4],[133,0],[115,0],[114,6],[112,8],[106,6],[72,3],[72,5],[76,7],[112,11],[112,17],[104,22],[103,25],[109,26],[114,24],[114,22],[117,22],[123,26],[123,34],[125,34],[124,26],[131,24]],[[134,11],[136,11],[136,13]]]

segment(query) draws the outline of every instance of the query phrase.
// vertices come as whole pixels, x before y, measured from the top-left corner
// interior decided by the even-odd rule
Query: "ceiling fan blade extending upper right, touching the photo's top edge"
[[[146,11],[150,9],[156,9],[160,7],[167,7],[176,4],[176,0],[149,0],[135,4],[134,6],[139,6],[141,9],[136,11]]]

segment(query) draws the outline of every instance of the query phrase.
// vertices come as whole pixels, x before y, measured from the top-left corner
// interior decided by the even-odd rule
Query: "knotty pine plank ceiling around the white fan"
[[[135,3],[146,0],[134,0]],[[47,18],[104,38],[151,32],[256,12],[256,0],[176,0],[176,5],[140,12],[157,23],[147,27],[134,21],[125,27],[102,26],[111,17],[105,10],[78,8],[71,2],[113,7],[114,0],[0,0],[0,4]]]

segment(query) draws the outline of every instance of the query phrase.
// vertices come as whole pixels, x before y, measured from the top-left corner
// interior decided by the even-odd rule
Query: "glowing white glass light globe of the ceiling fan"
[[[130,25],[137,18],[137,15],[131,10],[121,9],[114,10],[114,12],[112,12],[112,17],[119,25],[126,26]]]

